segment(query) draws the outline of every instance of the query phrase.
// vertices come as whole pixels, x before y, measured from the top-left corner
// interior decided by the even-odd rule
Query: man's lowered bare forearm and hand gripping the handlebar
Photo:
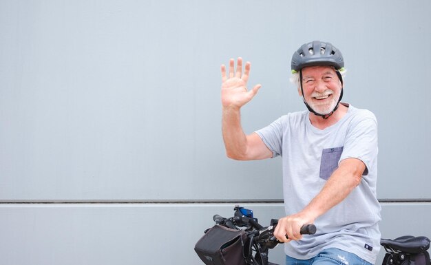
[[[322,191],[302,211],[279,220],[274,231],[277,240],[282,242],[300,240],[302,238],[299,233],[301,226],[313,224],[316,218],[347,198],[350,192],[360,184],[365,169],[364,162],[357,158],[342,160]],[[284,235],[288,235],[289,239],[287,240]]]

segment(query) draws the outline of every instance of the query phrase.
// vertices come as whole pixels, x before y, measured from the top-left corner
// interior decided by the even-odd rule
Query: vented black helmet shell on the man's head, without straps
[[[332,65],[339,70],[344,67],[343,55],[332,44],[323,41],[305,43],[293,53],[291,63],[293,73],[315,65]]]

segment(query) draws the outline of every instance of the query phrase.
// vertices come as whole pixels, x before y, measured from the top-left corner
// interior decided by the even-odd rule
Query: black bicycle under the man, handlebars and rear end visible
[[[235,259],[235,262],[232,264],[278,265],[268,260],[269,250],[277,246],[277,244],[282,244],[273,235],[278,220],[272,219],[269,226],[262,226],[257,222],[257,218],[254,218],[252,210],[244,209],[239,205],[235,205],[233,210],[235,212],[231,218],[223,218],[220,215],[213,216],[215,222],[213,228],[219,228],[219,231],[215,231],[210,240],[221,237],[218,234],[220,231],[221,233],[233,233],[234,235],[233,237],[225,237],[226,240],[229,240],[227,242],[222,241],[223,244],[217,246],[217,248],[220,248],[220,255],[222,255],[222,258],[219,260],[224,260],[224,262],[217,261],[213,257],[200,253],[198,244],[200,242],[208,244],[208,242],[203,242],[202,239],[213,228],[207,229],[205,235],[195,246],[195,251],[202,259],[202,262],[207,265],[229,265],[229,262],[223,257],[222,253],[224,250],[231,248],[231,251],[239,252],[239,254],[237,253],[238,259]],[[223,227],[226,229],[220,230]],[[301,233],[313,235],[316,230],[314,224],[307,224],[302,227]],[[380,244],[386,251],[382,265],[430,265],[431,263],[428,253],[428,248],[430,248],[428,237],[405,235],[397,237],[394,240],[381,239]]]

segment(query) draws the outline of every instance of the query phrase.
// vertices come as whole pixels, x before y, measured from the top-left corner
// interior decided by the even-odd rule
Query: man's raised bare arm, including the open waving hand
[[[234,61],[229,61],[229,76],[226,67],[222,65],[222,134],[224,147],[229,158],[236,160],[254,160],[271,158],[273,153],[266,147],[257,134],[244,134],[241,126],[240,109],[257,94],[261,85],[255,85],[247,90],[251,64],[245,65],[242,74],[242,59],[238,58],[236,72]]]

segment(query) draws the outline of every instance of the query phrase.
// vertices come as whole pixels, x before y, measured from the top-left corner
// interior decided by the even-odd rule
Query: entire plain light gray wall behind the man
[[[379,120],[383,237],[431,237],[430,8],[0,0],[0,264],[200,264],[214,213],[280,218],[280,159],[224,156],[220,64],[242,56],[263,85],[251,132],[304,109],[290,59],[315,39],[344,54],[344,101]]]

